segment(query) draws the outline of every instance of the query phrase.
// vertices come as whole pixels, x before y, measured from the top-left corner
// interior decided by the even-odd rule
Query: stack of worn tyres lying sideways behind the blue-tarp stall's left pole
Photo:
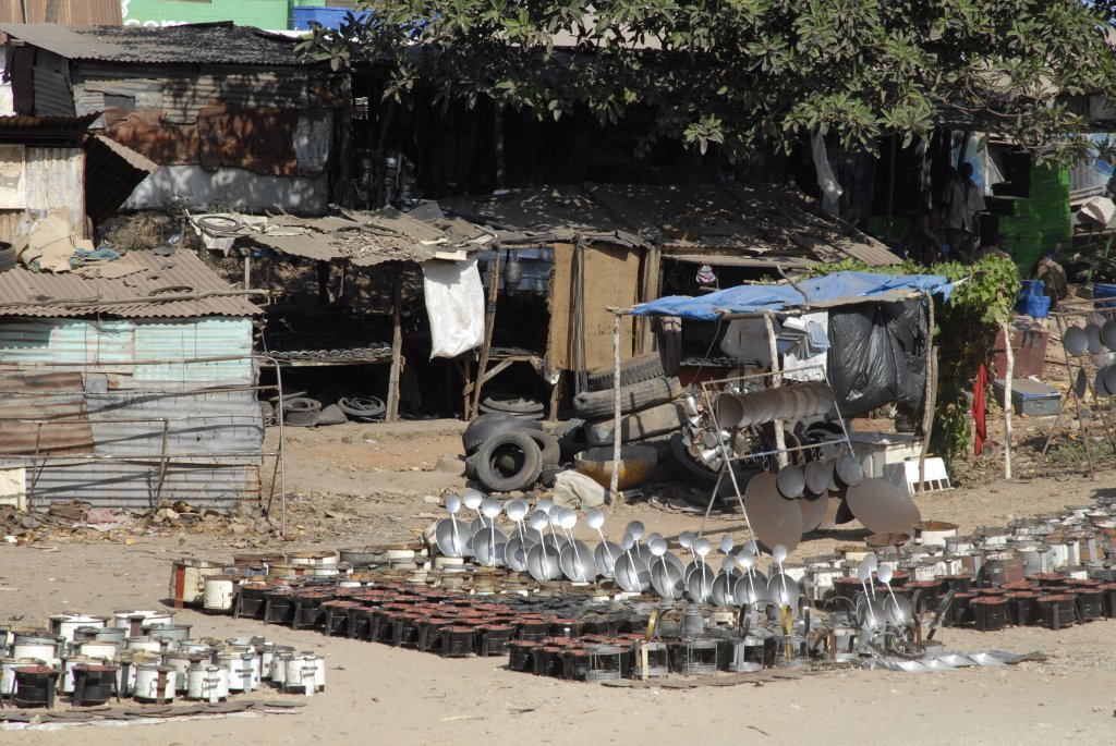
[[[589,374],[588,390],[574,397],[574,411],[585,420],[585,436],[590,446],[613,443],[616,389],[613,370]],[[620,442],[662,443],[686,424],[686,411],[679,399],[682,386],[673,376],[663,375],[657,353],[633,358],[620,365]]]

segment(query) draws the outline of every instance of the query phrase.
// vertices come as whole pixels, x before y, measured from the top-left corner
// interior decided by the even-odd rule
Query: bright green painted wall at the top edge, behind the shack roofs
[[[290,6],[291,0],[121,0],[126,26],[233,21],[271,31],[290,27]]]

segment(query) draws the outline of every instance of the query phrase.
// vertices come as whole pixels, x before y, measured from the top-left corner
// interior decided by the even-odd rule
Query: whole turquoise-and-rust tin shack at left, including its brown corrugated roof
[[[259,309],[194,254],[0,272],[0,501],[227,510],[258,496]]]

